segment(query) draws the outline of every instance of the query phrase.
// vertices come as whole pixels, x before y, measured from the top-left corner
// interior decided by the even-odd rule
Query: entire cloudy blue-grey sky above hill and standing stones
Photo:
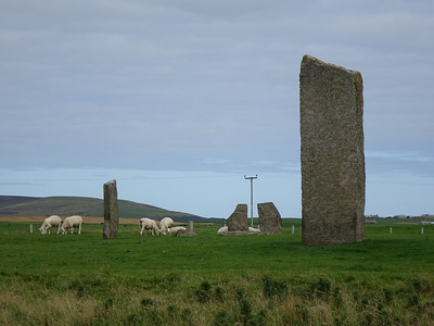
[[[434,214],[433,30],[432,0],[0,0],[0,195],[226,218],[257,175],[299,217],[309,54],[362,75],[366,214]]]

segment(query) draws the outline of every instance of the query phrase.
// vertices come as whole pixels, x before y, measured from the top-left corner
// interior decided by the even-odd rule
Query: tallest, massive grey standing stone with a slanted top
[[[365,237],[361,74],[305,55],[299,83],[303,243],[361,241]]]

